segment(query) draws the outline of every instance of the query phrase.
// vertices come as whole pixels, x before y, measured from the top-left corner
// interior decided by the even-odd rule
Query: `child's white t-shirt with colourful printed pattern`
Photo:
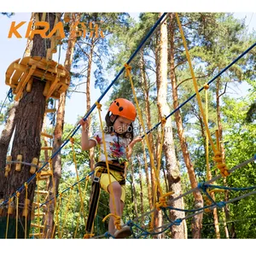
[[[106,148],[108,153],[108,160],[126,160],[126,151],[125,148],[129,144],[129,139],[120,137],[118,138],[115,132],[113,133],[104,133]],[[101,155],[100,161],[106,161],[106,157],[104,154],[104,144],[102,143],[102,132],[96,132],[93,137],[90,137],[90,140],[96,142],[96,145],[100,145]]]

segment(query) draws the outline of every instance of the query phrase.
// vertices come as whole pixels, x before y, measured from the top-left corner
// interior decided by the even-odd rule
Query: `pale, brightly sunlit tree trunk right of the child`
[[[159,56],[158,56],[159,55]],[[166,101],[167,95],[167,26],[164,22],[160,26],[160,49],[156,53],[156,81],[157,81],[157,106],[160,113],[160,119],[163,119],[171,111]],[[177,166],[177,158],[175,154],[173,135],[172,135],[172,120],[166,120],[166,129],[164,132],[163,151],[166,156],[166,172],[168,179],[169,191],[174,191],[175,195],[182,194],[180,172]],[[172,196],[174,198],[174,196]],[[182,208],[182,200],[172,202],[172,207]],[[184,213],[178,211],[170,211],[171,219],[183,218]],[[184,238],[183,223],[180,225],[172,225],[172,238]]]

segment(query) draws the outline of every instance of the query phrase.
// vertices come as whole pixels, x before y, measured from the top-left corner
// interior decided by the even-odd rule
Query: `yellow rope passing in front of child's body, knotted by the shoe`
[[[97,106],[97,109],[98,109],[98,113],[99,113],[99,119],[100,119],[100,124],[101,124],[101,130],[102,130],[102,143],[103,143],[103,146],[104,146],[104,154],[105,154],[105,158],[106,158],[106,166],[107,166],[107,170],[108,170],[108,182],[110,184],[110,194],[112,196],[112,201],[113,201],[113,213],[110,213],[108,214],[108,216],[113,216],[114,218],[116,218],[116,221],[117,221],[117,229],[119,230],[119,226],[120,226],[120,217],[117,215],[116,213],[116,207],[115,207],[115,201],[114,201],[114,196],[113,196],[113,186],[112,186],[112,183],[111,183],[111,178],[110,178],[110,171],[109,171],[109,166],[108,166],[108,153],[107,153],[107,146],[106,146],[106,142],[105,142],[105,133],[104,133],[104,130],[103,130],[103,124],[102,124],[102,114],[101,114],[101,111],[102,111],[102,104],[100,104],[99,102],[96,102],[96,106]],[[104,222],[107,217],[106,216],[105,218],[103,218],[102,222]],[[118,218],[119,217],[119,218]],[[119,221],[118,221],[119,220]],[[114,222],[116,222],[114,221]]]

